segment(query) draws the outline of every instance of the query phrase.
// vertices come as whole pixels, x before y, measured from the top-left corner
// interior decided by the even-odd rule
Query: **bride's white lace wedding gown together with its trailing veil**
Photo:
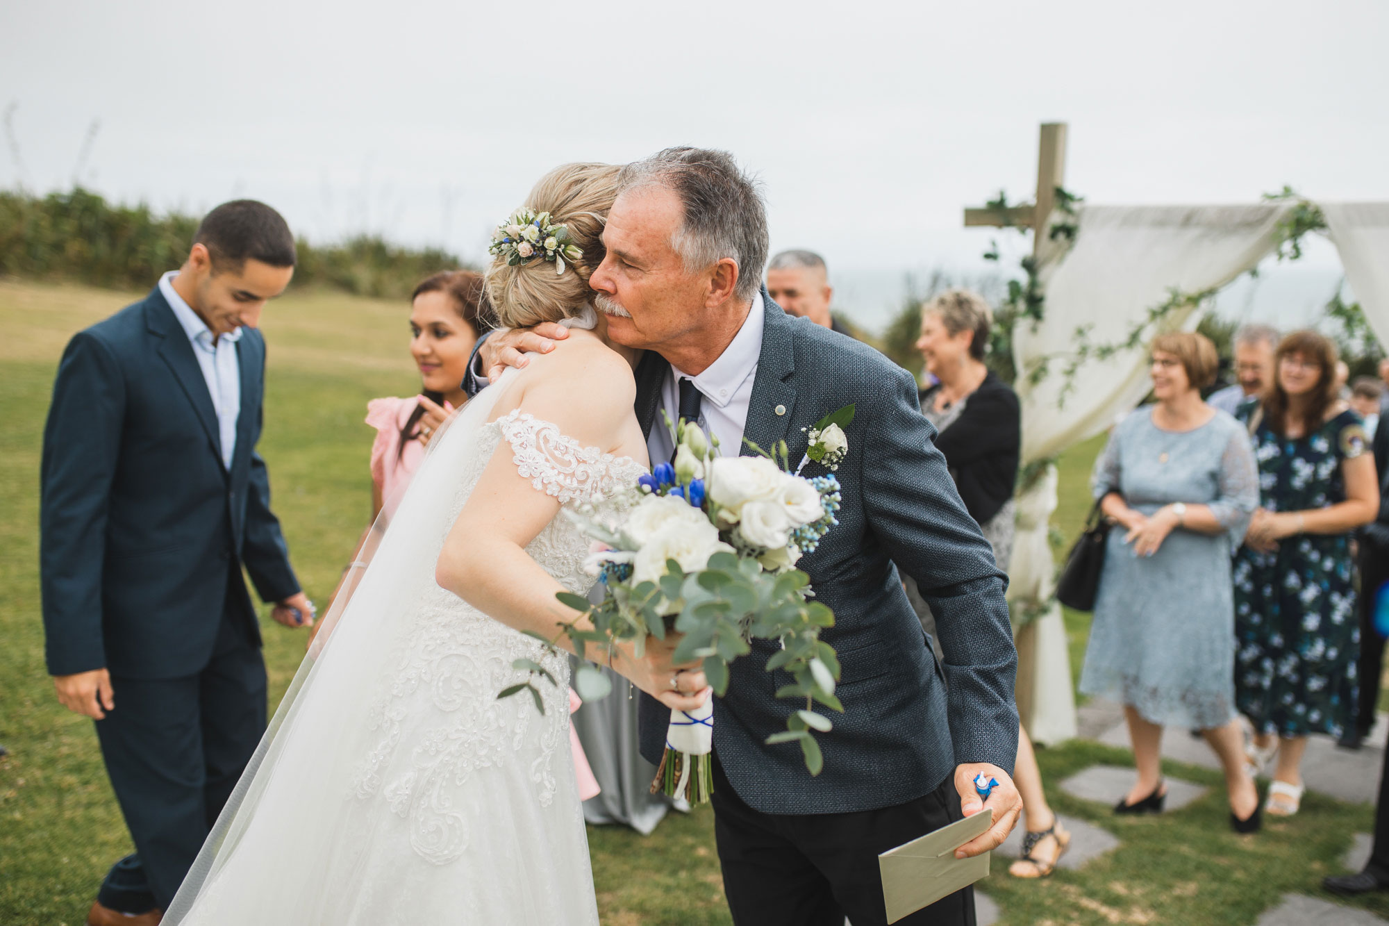
[[[440,588],[435,563],[503,445],[536,491],[565,506],[611,505],[644,469],[519,410],[489,423],[504,382],[436,438],[346,609],[328,615],[339,619],[326,645],[296,676],[167,926],[597,923],[568,745],[568,662]],[[563,512],[526,552],[575,594],[593,583],[582,569],[589,539]],[[544,715],[528,692],[497,699],[525,679],[514,659],[554,676],[538,683]]]

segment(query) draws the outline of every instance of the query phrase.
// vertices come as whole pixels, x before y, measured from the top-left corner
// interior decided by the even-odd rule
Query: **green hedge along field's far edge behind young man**
[[[42,197],[0,190],[0,274],[143,291],[183,263],[197,222],[108,203],[81,186]],[[463,266],[444,250],[400,247],[375,235],[326,246],[300,238],[297,249],[294,286],[357,296],[400,299],[429,274]]]

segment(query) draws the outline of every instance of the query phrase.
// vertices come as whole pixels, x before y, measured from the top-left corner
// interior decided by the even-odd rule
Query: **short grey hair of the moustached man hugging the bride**
[[[668,147],[618,174],[618,192],[642,186],[671,190],[685,216],[671,246],[689,271],[729,257],[738,264],[733,296],[751,300],[767,263],[767,206],[754,178],[728,152]]]

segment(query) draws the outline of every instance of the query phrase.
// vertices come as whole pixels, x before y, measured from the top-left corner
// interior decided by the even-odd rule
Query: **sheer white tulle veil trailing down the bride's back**
[[[593,310],[586,309],[561,324],[592,328]],[[517,371],[508,370],[440,430],[401,494],[394,516],[388,523],[382,514],[368,531],[357,556],[365,567],[351,570],[332,608],[321,617],[322,627],[304,662],[165,912],[165,926],[186,922],[190,912],[197,912],[193,920],[204,922],[194,904],[217,890],[218,873],[228,861],[239,850],[256,852],[267,840],[274,840],[275,833],[294,831],[303,841],[304,829],[322,830],[308,834],[321,855],[310,851],[310,858],[304,859],[301,890],[306,894],[326,890],[315,883],[315,859],[332,856],[339,872],[344,865],[351,868],[350,855],[344,859],[340,844],[347,834],[335,831],[332,823],[322,825],[335,820],[344,797],[338,787],[325,784],[325,780],[336,780],[325,776],[325,770],[350,767],[371,748],[371,733],[360,723],[367,716],[369,698],[364,680],[381,674],[382,662],[400,633],[400,622],[417,606],[419,590],[435,584],[439,549],[458,505],[460,469],[515,375]],[[306,716],[313,722],[306,722]],[[282,787],[271,788],[272,783]],[[353,837],[360,834],[353,833]],[[364,879],[382,876],[382,872],[358,873]]]

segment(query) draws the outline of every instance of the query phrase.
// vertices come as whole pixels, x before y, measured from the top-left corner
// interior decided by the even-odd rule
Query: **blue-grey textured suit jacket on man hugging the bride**
[[[964,762],[1011,772],[1018,715],[1007,580],[935,448],[915,381],[878,350],[785,314],[765,288],[763,303],[763,349],[743,435],[763,448],[783,439],[799,462],[803,427],[857,406],[846,428],[849,453],[835,473],[839,524],[796,564],[835,612],[835,626],[821,637],[839,656],[845,713],[817,706],[835,724],[818,736],[820,776],[806,770],[796,744],[765,745],[803,702],[775,697],[793,680],[765,672],[776,644],[753,641],[753,652],[732,665],[728,694],[714,702],[714,751],[729,783],[765,813],[843,813],[920,798]],[[668,368],[649,350],[636,370],[635,410],[647,435]],[[743,453],[751,450],[745,445]],[[814,463],[804,470],[824,473]],[[945,665],[935,660],[899,569],[917,580],[936,616]],[[643,694],[640,748],[653,763],[668,722],[669,710]]]

